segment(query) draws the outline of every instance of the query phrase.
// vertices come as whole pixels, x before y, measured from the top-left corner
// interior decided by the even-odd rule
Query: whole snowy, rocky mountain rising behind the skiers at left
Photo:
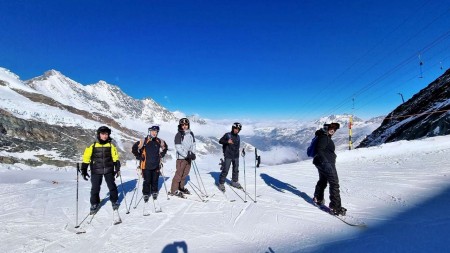
[[[0,93],[0,162],[8,164],[73,164],[101,125],[113,129],[122,158],[132,159],[131,145],[143,133],[128,122],[178,120],[150,98],[134,99],[104,81],[83,86],[56,70],[21,81],[0,68]],[[26,151],[34,155],[24,156]]]

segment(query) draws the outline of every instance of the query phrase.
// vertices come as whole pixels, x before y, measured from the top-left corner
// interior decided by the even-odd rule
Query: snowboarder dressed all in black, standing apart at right
[[[345,215],[347,209],[341,206],[339,178],[336,171],[336,154],[334,152],[335,146],[331,139],[339,127],[339,123],[324,124],[323,129],[316,131],[318,139],[313,164],[319,171],[319,181],[316,184],[313,201],[317,205],[325,204],[324,191],[328,183],[330,184],[330,210],[335,215]]]

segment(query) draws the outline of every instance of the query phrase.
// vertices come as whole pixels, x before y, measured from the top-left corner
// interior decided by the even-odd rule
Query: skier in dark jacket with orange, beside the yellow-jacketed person
[[[148,136],[144,140],[137,141],[132,147],[132,153],[140,161],[139,168],[144,177],[142,195],[144,202],[148,202],[150,195],[158,198],[158,179],[161,170],[161,158],[167,153],[167,144],[158,138],[159,126],[148,129]]]

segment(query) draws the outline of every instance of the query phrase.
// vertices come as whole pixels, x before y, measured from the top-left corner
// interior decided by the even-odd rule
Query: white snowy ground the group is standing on
[[[230,188],[227,196],[235,202],[216,189],[218,159],[209,157],[197,161],[207,192],[215,194],[209,202],[167,200],[161,185],[163,212],[144,217],[142,204],[125,214],[120,194],[123,223],[111,225],[105,201],[93,222],[81,226],[84,234],[73,229],[75,169],[0,164],[0,252],[449,252],[448,157],[450,136],[339,153],[343,206],[367,223],[365,229],[310,204],[318,178],[311,160],[258,168],[257,203],[249,198],[244,203]],[[252,198],[253,158],[246,158]],[[173,167],[173,162],[164,167],[168,187]],[[129,162],[122,169],[128,205],[134,168]],[[241,160],[241,183],[243,171]],[[193,171],[191,176],[196,183]],[[90,183],[80,180],[79,221],[88,212],[90,190]],[[102,197],[106,189],[103,185]]]

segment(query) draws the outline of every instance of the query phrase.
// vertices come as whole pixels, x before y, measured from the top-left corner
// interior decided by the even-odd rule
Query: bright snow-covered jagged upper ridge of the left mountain
[[[145,122],[176,120],[173,113],[154,100],[134,99],[105,81],[83,86],[56,70],[50,70],[25,81],[25,84],[61,104],[77,106],[88,112],[101,112],[114,119],[137,118]]]

